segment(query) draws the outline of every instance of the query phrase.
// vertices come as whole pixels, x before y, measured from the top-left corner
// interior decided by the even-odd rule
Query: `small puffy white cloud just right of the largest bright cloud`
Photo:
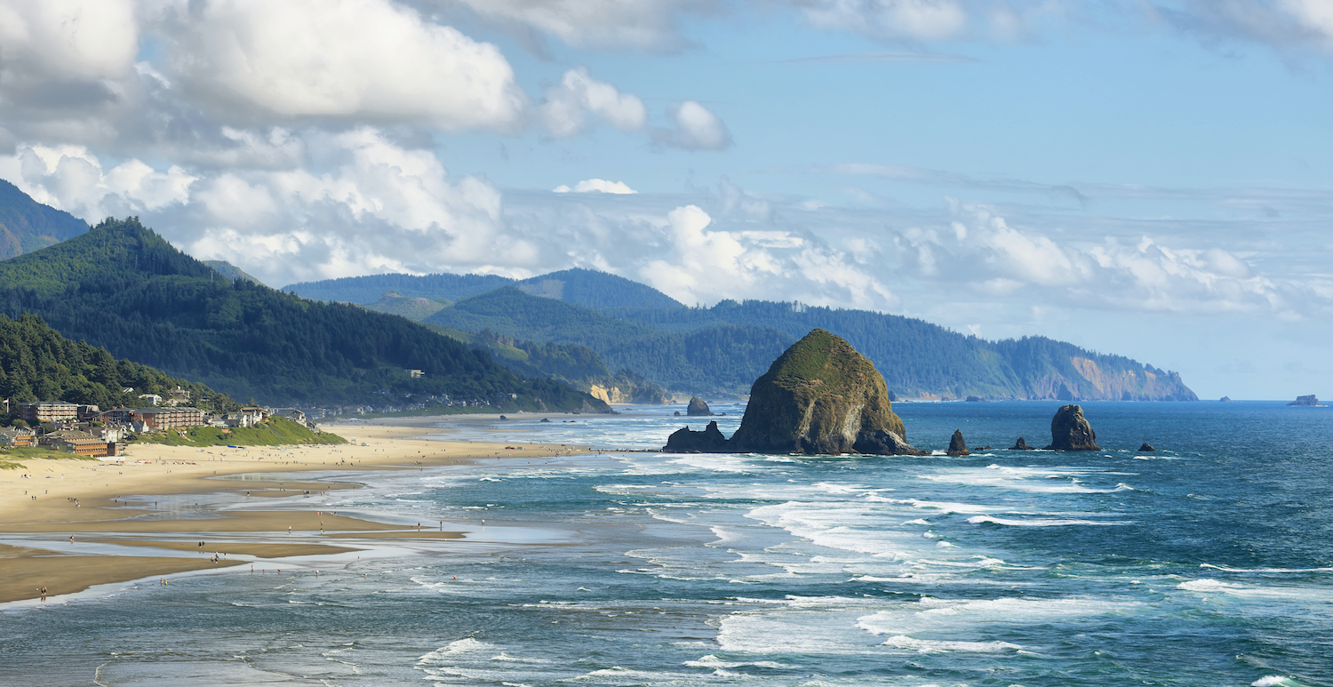
[[[565,72],[560,84],[547,89],[547,99],[539,108],[543,123],[555,136],[583,131],[589,112],[620,131],[637,131],[648,121],[643,100],[593,79],[585,67]]]

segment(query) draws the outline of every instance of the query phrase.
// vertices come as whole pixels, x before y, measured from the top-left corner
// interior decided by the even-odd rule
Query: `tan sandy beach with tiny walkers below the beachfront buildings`
[[[133,444],[117,459],[21,460],[21,468],[0,471],[0,535],[39,535],[45,547],[0,543],[0,571],[4,572],[0,575],[0,603],[39,598],[43,587],[48,595],[71,594],[95,584],[241,563],[223,556],[215,562],[213,554],[247,556],[245,560],[281,559],[355,551],[344,546],[351,538],[439,540],[464,536],[315,507],[201,514],[199,499],[192,500],[192,496],[209,495],[216,500],[223,495],[236,502],[316,496],[324,490],[355,488],[356,484],[307,482],[300,479],[300,472],[413,470],[479,459],[587,452],[583,447],[561,444],[420,439],[428,434],[447,434],[448,430],[436,426],[452,419],[412,418],[411,426],[380,420],[321,427],[345,438],[348,443],[341,446],[192,448]],[[272,479],[255,478],[263,474],[272,474]],[[231,475],[247,475],[247,479],[225,479]],[[204,546],[193,536],[183,539],[185,534],[197,535]],[[292,542],[273,543],[272,535],[280,534],[292,536]],[[52,542],[63,543],[65,538],[72,538],[68,550],[51,547]],[[83,551],[89,548],[87,544],[147,548],[153,555],[88,555]]]

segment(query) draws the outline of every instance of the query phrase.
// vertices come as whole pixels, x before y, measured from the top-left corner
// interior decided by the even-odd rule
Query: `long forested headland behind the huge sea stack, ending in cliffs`
[[[681,392],[745,392],[788,346],[822,328],[846,339],[902,398],[1197,400],[1180,375],[1045,337],[988,341],[924,320],[794,303],[593,311],[505,287],[427,321],[581,344]]]

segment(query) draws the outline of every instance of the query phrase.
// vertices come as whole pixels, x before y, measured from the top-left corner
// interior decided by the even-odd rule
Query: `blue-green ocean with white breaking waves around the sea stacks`
[[[1104,451],[998,450],[1057,407],[894,404],[918,447],[997,448],[965,458],[663,455],[661,408],[468,426],[605,451],[329,474],[367,488],[285,506],[468,539],[8,604],[0,684],[1333,684],[1333,408],[1086,403]]]

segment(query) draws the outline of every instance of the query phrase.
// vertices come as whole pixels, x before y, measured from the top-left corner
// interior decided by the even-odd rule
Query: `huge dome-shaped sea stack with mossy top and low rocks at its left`
[[[906,443],[884,378],[852,344],[813,329],[750,387],[741,427],[725,439],[717,423],[677,430],[672,454],[925,455]]]

